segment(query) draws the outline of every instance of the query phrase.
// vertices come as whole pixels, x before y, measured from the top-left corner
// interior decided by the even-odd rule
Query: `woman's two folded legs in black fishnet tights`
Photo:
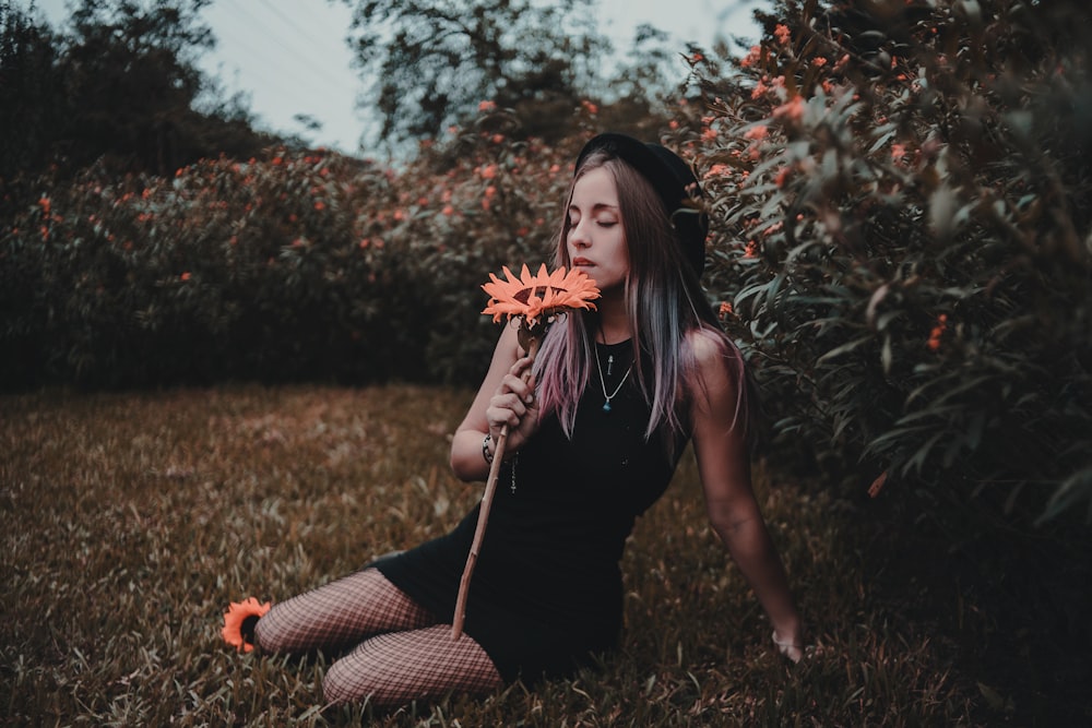
[[[327,671],[331,703],[370,700],[403,705],[448,691],[485,693],[503,684],[485,651],[465,634],[451,639],[375,569],[277,604],[258,620],[258,646],[271,653],[341,651]]]

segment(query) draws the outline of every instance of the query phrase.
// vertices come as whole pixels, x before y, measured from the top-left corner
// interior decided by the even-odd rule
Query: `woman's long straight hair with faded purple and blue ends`
[[[651,408],[645,440],[658,432],[668,454],[675,455],[679,435],[689,434],[689,404],[702,387],[698,362],[687,343],[691,332],[715,342],[723,351],[737,384],[733,427],[745,428],[746,434],[752,429],[749,425],[753,396],[743,356],[721,330],[698,275],[682,253],[664,203],[652,186],[625,160],[598,150],[587,155],[573,175],[569,201],[577,181],[598,168],[606,169],[614,178],[629,249],[624,299],[630,327],[636,333],[634,380]],[[557,238],[555,264],[567,270],[571,266],[566,244],[569,229],[566,215]],[[582,311],[558,321],[535,361],[542,411],[556,411],[569,437],[574,429],[578,403],[594,371],[597,315]],[[643,366],[642,353],[651,360],[651,369]]]

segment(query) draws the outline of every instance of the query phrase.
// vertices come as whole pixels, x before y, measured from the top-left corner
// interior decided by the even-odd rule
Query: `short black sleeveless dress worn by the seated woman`
[[[608,393],[621,382],[630,346],[597,345]],[[518,456],[501,467],[470,585],[464,631],[508,682],[569,673],[590,655],[617,644],[622,547],[637,516],[667,488],[677,463],[677,457],[668,460],[658,437],[645,442],[649,406],[633,380],[636,372],[605,411],[603,387],[593,372],[572,440],[556,417],[547,416]],[[675,452],[684,444],[677,443]],[[478,510],[447,536],[377,566],[448,623]]]

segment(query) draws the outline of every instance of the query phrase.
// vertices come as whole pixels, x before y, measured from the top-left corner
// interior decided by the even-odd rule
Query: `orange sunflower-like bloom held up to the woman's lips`
[[[592,300],[600,297],[595,282],[583,271],[566,273],[563,267],[559,267],[548,273],[545,263],[535,275],[531,275],[524,264],[519,278],[507,265],[503,271],[508,281],[490,273],[490,283],[482,286],[482,290],[490,297],[482,313],[491,313],[494,322],[499,322],[506,314],[509,319],[522,319],[532,334],[539,324],[549,323],[568,309],[594,309]]]

